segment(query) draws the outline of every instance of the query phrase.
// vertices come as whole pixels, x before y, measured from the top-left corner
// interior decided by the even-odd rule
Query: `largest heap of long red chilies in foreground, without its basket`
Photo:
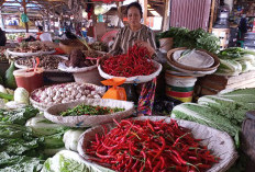
[[[115,122],[115,121],[114,121]],[[211,154],[191,130],[164,121],[127,121],[91,141],[91,160],[115,171],[207,171],[219,158]],[[106,127],[104,127],[106,128]],[[108,133],[108,134],[107,134]]]

